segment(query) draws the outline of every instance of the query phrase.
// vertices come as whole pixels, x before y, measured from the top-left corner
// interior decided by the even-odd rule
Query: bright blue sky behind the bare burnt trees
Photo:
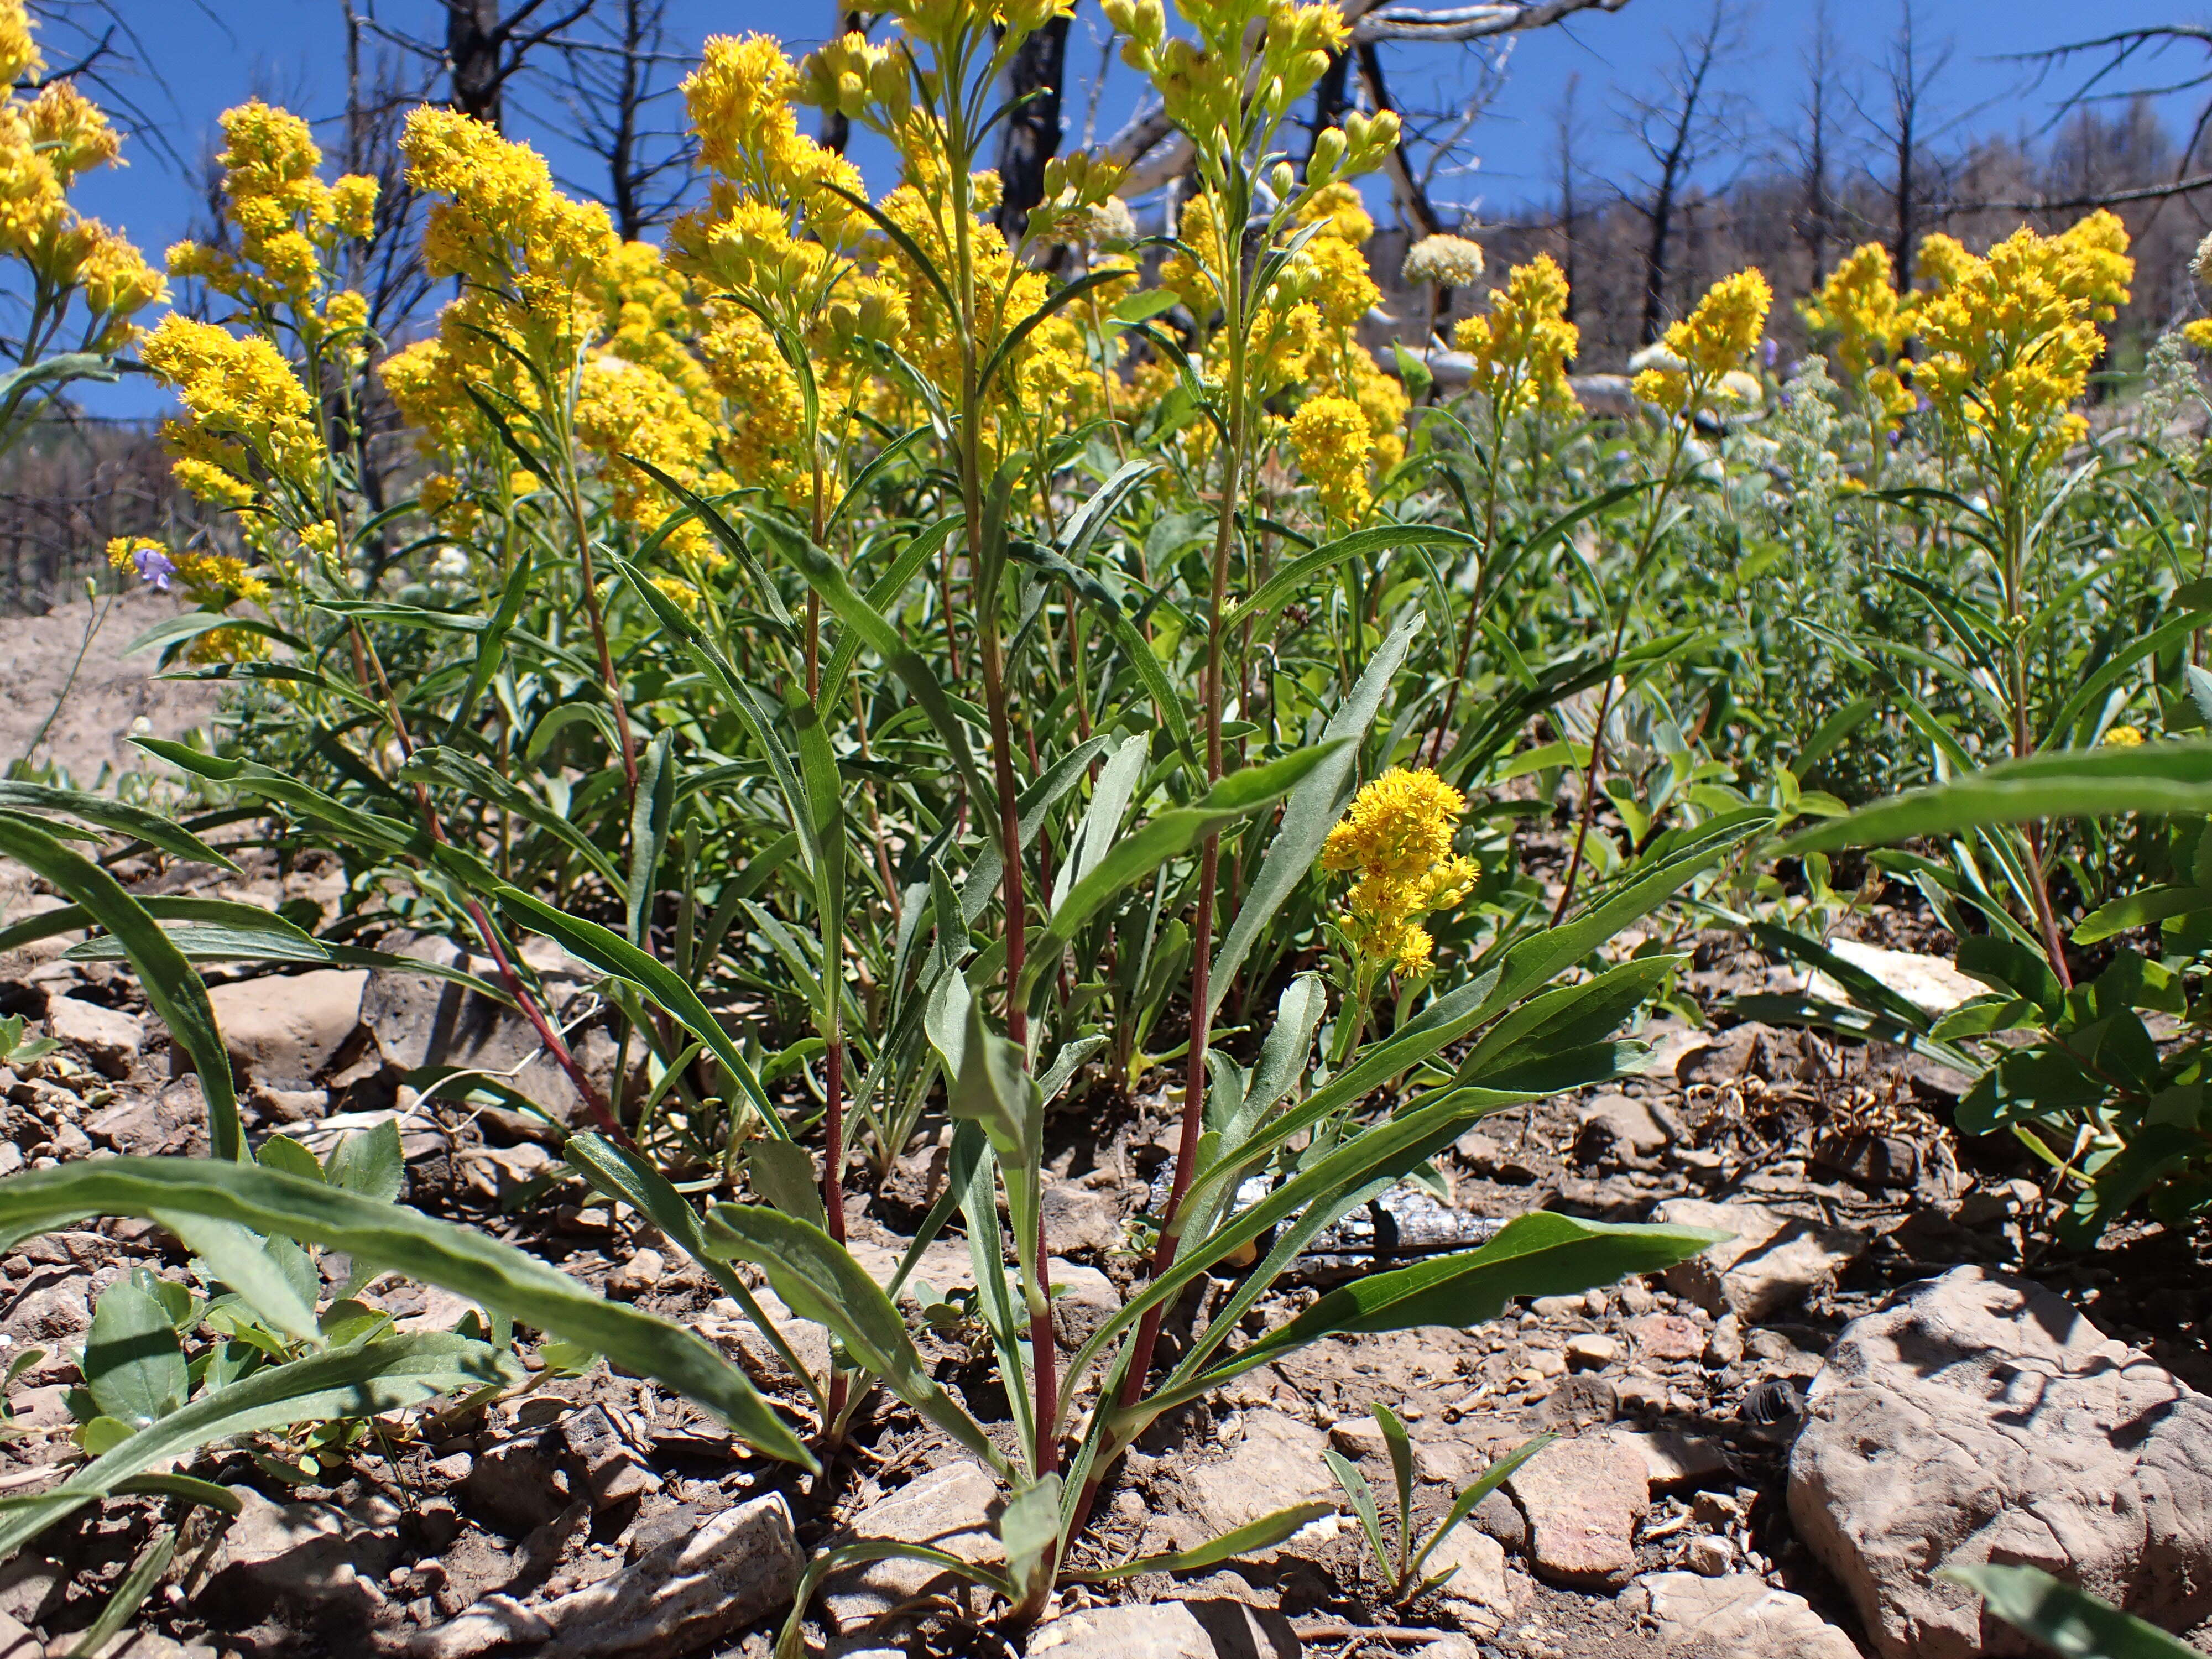
[[[358,0],[356,0],[358,4]],[[343,108],[343,24],[338,0],[115,0],[119,15],[137,33],[144,60],[161,71],[159,84],[135,82],[142,106],[157,117],[161,137],[197,161],[210,148],[215,117],[230,104],[261,93],[314,119]],[[363,7],[369,9],[369,7]],[[549,0],[549,11],[557,0]],[[1787,126],[1801,91],[1798,55],[1814,18],[1814,0],[1743,0],[1745,51],[1725,66],[1730,95],[1772,126]],[[2130,24],[2172,22],[2208,7],[2181,0],[2104,0],[2084,9],[2079,0],[1916,0],[1924,49],[1949,42],[1951,60],[1936,88],[1938,115],[1975,131],[2035,131],[2059,91],[2053,80],[2039,91],[2022,88],[2022,66],[2004,53],[2033,51],[2086,33]],[[380,0],[374,13],[409,33],[440,31],[434,0]],[[781,33],[794,49],[812,44],[834,15],[830,0],[803,4],[768,0],[675,0],[675,27],[686,49],[719,31]],[[1615,13],[1586,13],[1564,27],[1515,40],[1502,93],[1471,128],[1469,146],[1480,168],[1438,188],[1451,201],[1478,212],[1506,212],[1526,199],[1551,197],[1553,113],[1568,77],[1579,77],[1582,155],[1597,181],[1619,177],[1630,166],[1630,148],[1615,115],[1621,93],[1650,88],[1672,58],[1672,38],[1697,29],[1710,0],[1628,0]],[[1834,29],[1847,53],[1878,60],[1898,27],[1898,0],[1834,0]],[[1099,62],[1104,22],[1093,0],[1077,13],[1071,69]],[[1088,42],[1088,44],[1086,44]],[[1460,77],[1467,49],[1436,46],[1402,60],[1400,95],[1418,93],[1420,73]],[[1416,62],[1422,69],[1416,69]],[[2179,77],[2205,62],[2201,53],[2172,53],[2137,71],[2143,82]],[[1119,71],[1119,66],[1117,66]],[[1860,71],[1865,75],[1865,71]],[[1108,82],[1099,104],[1099,135],[1108,135],[1133,97],[1128,73]],[[1871,82],[1869,82],[1871,91]],[[529,88],[520,93],[526,106]],[[538,97],[538,104],[546,100]],[[2170,100],[2181,113],[2185,100]],[[2188,113],[2194,113],[2190,104]],[[1071,100],[1071,142],[1082,137],[1084,111]],[[526,122],[511,122],[518,135],[538,137]],[[1754,139],[1774,144],[1772,133]],[[564,161],[557,137],[546,139],[555,166]],[[82,206],[122,226],[144,248],[159,250],[177,239],[192,212],[192,184],[159,159],[146,142],[126,155],[133,166],[88,179]],[[568,157],[573,161],[573,157]],[[863,164],[865,164],[863,153]],[[1741,157],[1719,157],[1732,166]],[[97,407],[115,414],[146,409],[144,383],[100,394]]]

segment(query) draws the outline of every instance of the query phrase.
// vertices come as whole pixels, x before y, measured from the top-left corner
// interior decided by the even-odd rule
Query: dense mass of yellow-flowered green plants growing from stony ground
[[[195,608],[155,644],[241,695],[234,748],[146,748],[330,847],[347,900],[319,933],[164,914],[53,818],[223,863],[192,825],[4,785],[0,852],[131,960],[199,1068],[212,1148],[0,1192],[13,1239],[153,1217],[210,1292],[102,1303],[146,1340],[88,1376],[100,1455],[71,1502],[137,1480],[133,1447],[511,1387],[511,1321],[810,1469],[896,1396],[1009,1489],[1004,1568],[911,1553],[1015,1626],[1064,1579],[1279,1542],[1312,1513],[1104,1568],[1086,1522],[1161,1413],[1307,1343],[1464,1327],[1712,1243],[1526,1214],[1245,1329],[1307,1243],[1471,1124],[1632,1071],[1624,1033],[1679,995],[1714,916],[1851,998],[1763,1013],[1978,1073],[1962,1124],[2046,1157],[2086,1237],[2146,1197],[2212,1203],[2197,1037],[2143,1022],[2203,1024],[2208,526],[2163,425],[2081,414],[2132,272],[2119,221],[1986,254],[1929,237],[1907,290],[1865,248],[1805,310],[1827,361],[1787,380],[1761,352],[1765,276],[1725,276],[1639,358],[1635,414],[1599,420],[1548,259],[1506,272],[1455,354],[1363,343],[1358,181],[1396,119],[1352,113],[1303,166],[1285,137],[1347,44],[1336,7],[1188,0],[1181,33],[1159,0],[1108,13],[1190,142],[1157,234],[1104,155],[1057,157],[1018,230],[989,217],[1002,71],[1053,9],[929,0],[803,62],[708,42],[684,95],[712,184],[666,248],[617,237],[529,146],[418,111],[407,177],[456,299],[389,354],[345,285],[374,181],[325,179],[285,111],[223,117],[223,237],[170,250],[206,316],[168,314],[139,356],[181,403],[177,480],[228,529],[111,557],[181,586]],[[878,133],[896,186],[872,195],[801,106]],[[9,252],[40,272],[42,246]],[[97,352],[131,343],[159,279],[133,292],[55,288],[104,319]],[[2179,356],[2172,376],[2197,396]],[[365,482],[372,389],[420,456],[405,500]],[[1845,867],[1849,847],[1878,849]],[[1825,949],[1880,880],[1918,887],[1989,998],[1931,1022]],[[195,958],[389,967],[352,942],[376,920],[482,949],[476,984],[573,1088],[524,1102],[566,1168],[743,1303],[810,1422],[692,1334],[398,1206],[389,1148],[248,1152]],[[611,1091],[526,933],[602,975]],[[1062,1367],[1046,1113],[1161,1084],[1179,1124],[1146,1279]],[[980,1325],[1013,1436],[931,1376],[847,1250],[847,1183],[933,1102],[951,1177],[898,1283],[958,1219],[980,1283],[931,1312]],[[460,1290],[502,1329],[431,1354],[319,1310],[314,1248]],[[1228,1263],[1203,1332],[1164,1349],[1175,1298]],[[834,1334],[823,1374],[737,1265]],[[332,1409],[325,1371],[365,1394]],[[239,1416],[272,1389],[292,1416]],[[1405,1599],[1442,1531],[1413,1537],[1405,1436],[1378,1420],[1396,1542],[1340,1473]],[[314,1433],[263,1455],[314,1455]],[[9,1544],[46,1511],[13,1515]]]

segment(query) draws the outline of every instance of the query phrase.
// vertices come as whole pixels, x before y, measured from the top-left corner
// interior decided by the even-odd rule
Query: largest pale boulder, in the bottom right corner
[[[2212,1617],[2212,1398],[2042,1285],[1953,1267],[1851,1321],[1790,1453],[1798,1537],[1885,1659],[2033,1648],[1940,1566],[2039,1566],[2166,1630]]]

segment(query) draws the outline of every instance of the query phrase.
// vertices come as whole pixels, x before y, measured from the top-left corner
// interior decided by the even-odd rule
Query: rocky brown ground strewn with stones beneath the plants
[[[246,876],[223,883],[206,869],[124,874],[146,891],[272,907],[338,898],[336,872],[312,856],[279,872],[248,852],[241,865]],[[0,914],[18,920],[55,902],[24,889],[0,896]],[[22,1013],[62,1044],[0,1068],[0,1177],[108,1152],[204,1150],[197,1079],[179,1071],[131,978],[64,958],[69,942],[0,956],[0,1013]],[[385,949],[440,947],[392,936]],[[1865,960],[1927,998],[1947,995],[1940,962]],[[557,989],[588,995],[560,958],[540,967]],[[411,1203],[690,1325],[805,1418],[737,1303],[639,1217],[564,1179],[542,1126],[416,1091],[422,1066],[462,1064],[562,1099],[520,1022],[411,973],[212,978],[257,1139],[283,1130],[325,1152],[396,1119]],[[1783,969],[1714,936],[1692,991],[1721,1006],[1732,991],[1781,982]],[[2099,1256],[2053,1254],[2024,1159],[2000,1141],[1958,1144],[1944,1121],[1960,1079],[1893,1051],[1752,1024],[1659,1022],[1641,1035],[1652,1044],[1644,1077],[1462,1137],[1444,1159],[1449,1214],[1548,1206],[1661,1217],[1725,1228],[1734,1243],[1663,1279],[1540,1298],[1493,1325],[1340,1338],[1252,1371],[1155,1427],[1102,1498],[1079,1555],[1110,1564],[1172,1551],[1283,1504],[1338,1498],[1321,1455],[1332,1444],[1387,1489],[1376,1402],[1411,1429],[1427,1517],[1493,1455],[1559,1433],[1436,1557],[1455,1577],[1409,1606],[1383,1606],[1347,1511],[1256,1559],[1062,1590],[1026,1652],[2020,1650],[1997,1626],[1984,1630],[1964,1590],[1927,1575],[1931,1562],[1986,1557],[2068,1571],[2183,1632],[2212,1617],[2212,1402],[2197,1394],[2212,1292],[2201,1290],[2197,1241],[2137,1228]],[[604,1035],[586,1040],[586,1062],[613,1064]],[[1088,1102],[1053,1126],[1053,1276],[1068,1287],[1060,1325],[1071,1347],[1135,1281],[1126,1223],[1146,1206],[1170,1135],[1157,1099]],[[856,1250],[878,1279],[942,1179],[942,1139],[927,1124],[883,1192],[867,1192],[854,1168]],[[1380,1228],[1385,1241],[1391,1230]],[[1263,1305],[1265,1321],[1371,1265],[1343,1254],[1307,1263]],[[77,1460],[66,1402],[75,1354],[95,1298],[133,1267],[188,1276],[184,1252],[146,1223],[60,1232],[0,1256],[0,1367],[40,1352],[7,1387],[0,1498],[40,1491]],[[325,1259],[323,1272],[343,1279],[345,1263]],[[964,1241],[933,1245],[918,1279],[940,1294],[969,1283]],[[1208,1285],[1181,1318],[1206,1318],[1221,1292]],[[400,1329],[469,1316],[447,1292],[392,1276],[363,1301]],[[792,1336],[821,1360],[816,1327],[794,1323]],[[989,1418],[987,1374],[967,1363],[960,1336],[925,1340],[940,1380]],[[991,1482],[896,1402],[869,1405],[816,1482],[745,1455],[688,1402],[604,1365],[540,1371],[473,1418],[396,1418],[325,1453],[310,1478],[279,1478],[250,1447],[190,1469],[230,1484],[243,1511],[219,1535],[190,1533],[104,1655],[765,1659],[803,1555],[825,1542],[931,1540],[971,1559],[998,1548]],[[0,1659],[82,1652],[157,1520],[155,1500],[111,1500],[0,1564]],[[1006,1652],[969,1624],[956,1590],[914,1564],[849,1571],[816,1608],[812,1635],[836,1655]]]

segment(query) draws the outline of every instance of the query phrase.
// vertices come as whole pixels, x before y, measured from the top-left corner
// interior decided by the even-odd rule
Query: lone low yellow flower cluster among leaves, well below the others
[[[1367,962],[1398,973],[1429,964],[1436,940],[1422,918],[1458,907],[1482,876],[1451,852],[1467,796],[1436,772],[1391,768],[1352,796],[1321,847],[1321,867],[1356,876],[1345,896],[1345,938]]]

